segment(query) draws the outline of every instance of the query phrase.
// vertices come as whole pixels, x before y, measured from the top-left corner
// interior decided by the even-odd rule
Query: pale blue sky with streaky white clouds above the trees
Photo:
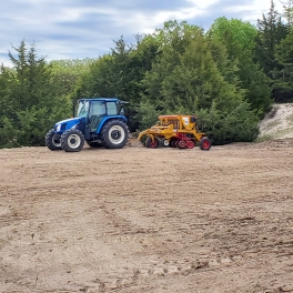
[[[253,24],[271,0],[0,0],[0,63],[9,65],[11,44],[34,43],[47,60],[98,58],[123,36],[153,32],[168,20],[205,30],[225,16]],[[275,0],[276,9],[283,11]]]

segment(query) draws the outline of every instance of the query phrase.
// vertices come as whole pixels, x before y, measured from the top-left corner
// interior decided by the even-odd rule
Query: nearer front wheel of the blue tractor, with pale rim
[[[70,129],[61,135],[61,146],[65,152],[79,152],[83,149],[84,137],[78,129]]]

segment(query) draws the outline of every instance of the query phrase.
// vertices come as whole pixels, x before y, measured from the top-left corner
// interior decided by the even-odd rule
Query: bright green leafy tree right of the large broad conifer
[[[220,40],[226,47],[230,60],[238,65],[239,85],[245,90],[245,99],[260,118],[269,110],[271,100],[270,79],[254,62],[257,30],[249,22],[238,19],[219,18],[208,36]]]

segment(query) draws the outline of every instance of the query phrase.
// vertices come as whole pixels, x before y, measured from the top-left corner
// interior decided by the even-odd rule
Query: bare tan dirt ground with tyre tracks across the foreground
[[[293,292],[293,139],[0,150],[0,292]]]

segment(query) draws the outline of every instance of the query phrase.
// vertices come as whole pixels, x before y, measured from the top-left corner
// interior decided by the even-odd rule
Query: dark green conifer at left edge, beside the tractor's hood
[[[1,67],[0,146],[43,145],[46,132],[67,117],[69,100],[55,92],[51,68],[38,59],[34,46],[24,41],[14,57],[13,68]]]

